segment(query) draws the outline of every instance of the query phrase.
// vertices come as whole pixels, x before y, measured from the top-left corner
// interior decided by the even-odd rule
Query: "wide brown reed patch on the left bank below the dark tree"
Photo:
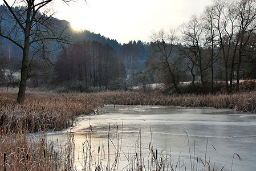
[[[2,94],[7,95],[10,96]],[[6,125],[12,131],[19,127],[28,132],[61,130],[72,126],[75,116],[92,113],[94,108],[102,105],[99,101],[88,93],[30,92],[23,104],[11,100],[1,102],[0,126]]]

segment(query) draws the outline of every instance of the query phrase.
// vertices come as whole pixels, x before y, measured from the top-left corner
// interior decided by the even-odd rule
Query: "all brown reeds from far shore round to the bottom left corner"
[[[27,139],[27,133],[70,127],[75,116],[89,115],[104,104],[214,107],[256,113],[256,91],[232,95],[166,95],[159,92],[53,93],[29,90],[23,104],[16,103],[16,97],[14,91],[0,91],[1,170],[75,170],[72,141],[63,148],[66,151],[59,152],[54,144],[46,143],[43,135],[39,139]]]

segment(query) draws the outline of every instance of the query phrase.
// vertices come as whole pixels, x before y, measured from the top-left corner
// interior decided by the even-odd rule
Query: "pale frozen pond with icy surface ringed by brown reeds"
[[[104,146],[107,153],[108,134],[113,144],[119,142],[120,146],[121,143],[118,170],[128,164],[125,159],[127,152],[131,153],[130,157],[135,154],[138,140],[141,142],[144,161],[148,158],[149,144],[152,143],[153,149],[157,149],[159,153],[170,154],[174,165],[180,155],[186,162],[187,170],[191,170],[187,132],[192,156],[195,154],[194,156],[205,160],[206,142],[209,142],[206,160],[210,160],[211,166],[214,165],[216,170],[221,170],[222,166],[225,166],[223,170],[231,170],[234,153],[238,153],[242,161],[235,156],[233,170],[256,170],[256,115],[253,113],[234,112],[229,109],[148,105],[116,105],[115,108],[113,105],[105,105],[99,111],[99,115],[78,117],[76,126],[71,129],[75,133],[77,155],[86,137],[88,138],[92,125],[91,146],[95,154],[99,146]],[[115,138],[116,125],[119,126],[119,141]],[[47,139],[64,141],[66,132],[67,130],[49,132]],[[110,148],[114,149],[112,143]]]

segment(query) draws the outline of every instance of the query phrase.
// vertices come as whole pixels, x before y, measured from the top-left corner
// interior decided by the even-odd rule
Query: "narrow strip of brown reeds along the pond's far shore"
[[[165,95],[162,93],[104,92],[100,93],[104,104],[123,105],[178,105],[181,107],[230,108],[235,111],[256,113],[256,91],[234,94]]]

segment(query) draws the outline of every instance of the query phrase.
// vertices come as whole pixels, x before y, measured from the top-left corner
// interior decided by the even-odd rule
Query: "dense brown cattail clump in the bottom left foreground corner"
[[[75,170],[74,136],[66,144],[47,142],[45,135],[0,133],[0,170]]]

